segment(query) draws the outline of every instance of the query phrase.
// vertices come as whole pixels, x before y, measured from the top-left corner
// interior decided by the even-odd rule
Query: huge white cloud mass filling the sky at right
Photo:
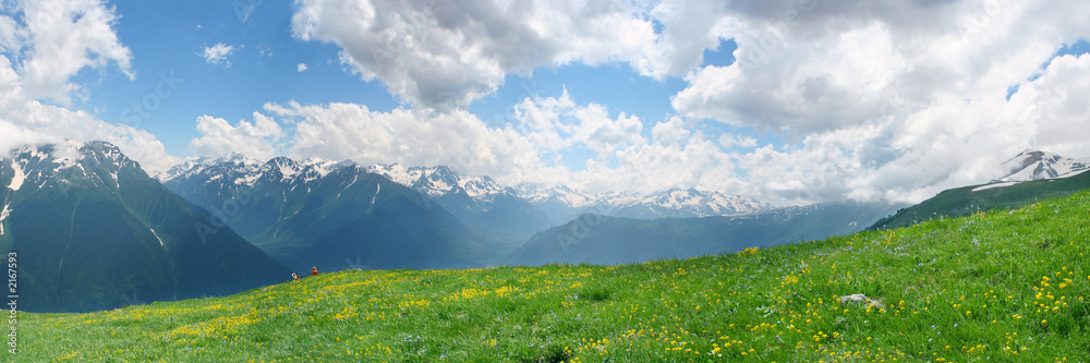
[[[686,118],[788,136],[738,155],[747,193],[919,202],[1000,177],[1000,162],[1025,148],[1090,155],[1078,126],[1090,104],[1085,57],[1040,69],[1064,43],[1090,36],[1064,15],[1088,11],[1045,1],[731,2],[712,31],[735,39],[738,62],[693,70],[673,105]]]

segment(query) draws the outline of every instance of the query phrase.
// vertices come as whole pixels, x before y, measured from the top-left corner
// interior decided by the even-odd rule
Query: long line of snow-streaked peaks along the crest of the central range
[[[159,176],[164,183],[173,179],[211,183],[219,179],[235,185],[287,183],[312,186],[326,176],[344,171],[372,173],[404,185],[431,199],[446,203],[453,210],[487,211],[496,203],[522,203],[564,223],[585,213],[629,218],[690,218],[748,215],[770,206],[750,198],[697,189],[670,189],[656,193],[588,193],[567,185],[545,186],[522,183],[504,186],[489,177],[468,177],[449,167],[405,167],[399,164],[361,167],[350,160],[335,162],[311,158],[295,161],[277,157],[264,164],[241,155],[198,159],[171,168]],[[506,201],[506,202],[505,202]]]

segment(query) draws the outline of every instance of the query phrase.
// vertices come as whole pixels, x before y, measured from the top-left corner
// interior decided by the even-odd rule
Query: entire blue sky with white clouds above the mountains
[[[1090,3],[39,0],[0,147],[448,165],[517,185],[918,202],[1090,156]],[[34,22],[34,23],[27,23]],[[48,121],[45,121],[48,120]]]

